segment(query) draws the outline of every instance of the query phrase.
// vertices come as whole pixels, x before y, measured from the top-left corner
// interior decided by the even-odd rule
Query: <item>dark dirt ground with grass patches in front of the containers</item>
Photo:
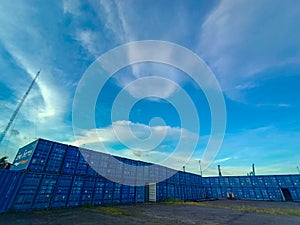
[[[282,212],[296,213],[278,215]],[[269,214],[273,213],[273,214]],[[217,200],[55,209],[0,215],[0,225],[300,224],[300,203]]]

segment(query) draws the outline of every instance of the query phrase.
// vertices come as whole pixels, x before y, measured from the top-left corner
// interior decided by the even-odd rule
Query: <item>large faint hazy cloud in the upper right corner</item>
[[[300,15],[294,3],[225,0],[207,17],[198,51],[228,97],[245,101],[244,83],[256,86],[260,72],[299,63]]]

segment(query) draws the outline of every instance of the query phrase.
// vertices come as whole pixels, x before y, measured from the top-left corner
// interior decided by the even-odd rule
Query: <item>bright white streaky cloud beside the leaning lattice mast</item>
[[[32,79],[35,77],[37,71],[42,69],[37,81],[41,94],[40,97],[42,97],[43,101],[43,106],[40,108],[40,119],[49,119],[49,117],[54,116],[60,117],[65,111],[64,106],[65,101],[68,100],[68,95],[63,91],[63,88],[54,83],[55,78],[52,72],[56,72],[56,67],[50,61],[52,51],[47,46],[45,37],[39,32],[39,27],[33,26],[31,13],[34,11],[34,8],[30,8],[25,4],[22,13],[20,13],[21,17],[12,17],[11,15],[16,13],[15,10],[16,8],[10,5],[1,14],[0,24],[5,31],[0,34],[1,44],[15,60],[15,63],[31,76]],[[6,18],[10,18],[10,20],[8,21]],[[25,23],[26,26],[19,26],[21,22]],[[13,77],[10,78],[12,79]],[[13,80],[17,84],[14,87],[14,91],[16,91],[18,99],[21,99],[30,83],[25,83],[25,87],[20,91],[18,79]],[[61,94],[64,95],[64,98],[60,96]],[[32,92],[27,100],[38,95],[39,93]]]

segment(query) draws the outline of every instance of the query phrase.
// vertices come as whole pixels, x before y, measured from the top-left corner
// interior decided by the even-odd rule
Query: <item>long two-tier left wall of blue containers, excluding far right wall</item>
[[[157,200],[204,198],[198,175],[44,139],[21,148],[14,164],[1,212],[146,202],[151,183]]]

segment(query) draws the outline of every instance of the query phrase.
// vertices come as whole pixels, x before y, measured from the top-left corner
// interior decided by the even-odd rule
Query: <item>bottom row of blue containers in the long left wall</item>
[[[5,171],[6,172],[6,171]],[[132,186],[112,182],[104,177],[59,175],[37,172],[8,171],[5,190],[1,189],[1,212],[27,211],[83,205],[128,204],[147,201],[147,185]],[[200,200],[200,185],[160,182],[156,185],[157,200]],[[5,204],[3,204],[5,202]]]

